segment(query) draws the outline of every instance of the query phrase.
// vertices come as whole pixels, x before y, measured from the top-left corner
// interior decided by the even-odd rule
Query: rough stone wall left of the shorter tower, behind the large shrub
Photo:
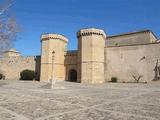
[[[36,72],[36,79],[40,76],[40,56],[4,57],[0,59],[0,71],[7,80],[19,80],[20,72],[29,69]]]

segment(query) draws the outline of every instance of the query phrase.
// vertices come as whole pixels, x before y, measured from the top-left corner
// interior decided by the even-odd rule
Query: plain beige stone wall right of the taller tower
[[[117,77],[119,81],[155,79],[155,67],[160,66],[160,43],[105,48],[105,79]]]

